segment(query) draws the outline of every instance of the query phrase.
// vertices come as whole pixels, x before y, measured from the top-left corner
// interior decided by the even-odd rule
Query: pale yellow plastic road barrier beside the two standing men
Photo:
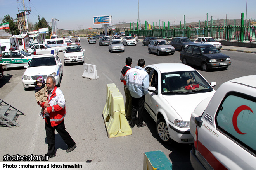
[[[109,138],[132,134],[131,127],[125,117],[123,95],[115,84],[107,84],[107,100],[102,116]]]

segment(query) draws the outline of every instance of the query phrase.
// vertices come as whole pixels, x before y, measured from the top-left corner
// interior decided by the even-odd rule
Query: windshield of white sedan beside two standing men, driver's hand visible
[[[197,71],[178,71],[161,73],[161,91],[163,95],[202,93],[213,91]]]

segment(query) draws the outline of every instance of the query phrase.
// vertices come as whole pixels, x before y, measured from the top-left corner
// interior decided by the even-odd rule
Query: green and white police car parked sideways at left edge
[[[9,50],[10,51],[3,52],[2,61],[0,61],[0,64],[6,64],[7,68],[26,66],[34,57],[34,55],[17,50],[17,47],[10,48]]]

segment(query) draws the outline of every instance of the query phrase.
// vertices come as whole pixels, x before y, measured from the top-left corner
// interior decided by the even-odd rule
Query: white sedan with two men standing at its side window
[[[190,134],[191,113],[215,90],[194,68],[182,63],[161,63],[145,68],[149,74],[149,93],[145,109],[156,122],[163,143],[194,143]]]

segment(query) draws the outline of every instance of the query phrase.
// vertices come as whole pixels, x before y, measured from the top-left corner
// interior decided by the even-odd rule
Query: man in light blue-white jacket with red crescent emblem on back
[[[144,59],[138,60],[138,65],[135,68],[131,68],[126,73],[126,83],[130,90],[132,97],[132,109],[131,109],[131,122],[130,126],[135,126],[137,119],[136,114],[138,111],[138,124],[137,127],[144,127],[147,124],[143,123],[143,112],[145,104],[145,95],[149,91],[149,75],[144,69]]]

